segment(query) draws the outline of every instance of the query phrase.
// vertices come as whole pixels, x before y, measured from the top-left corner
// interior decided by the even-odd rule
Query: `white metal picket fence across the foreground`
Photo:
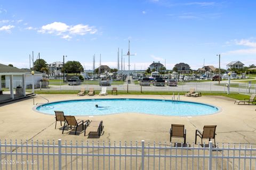
[[[1,169],[256,169],[254,145],[0,141]]]

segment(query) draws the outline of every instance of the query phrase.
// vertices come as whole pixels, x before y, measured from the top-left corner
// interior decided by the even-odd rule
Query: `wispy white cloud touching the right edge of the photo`
[[[228,46],[237,45],[237,46],[245,46],[249,48],[231,50],[223,54],[237,54],[237,55],[256,54],[256,42],[252,41],[252,39],[241,39],[241,40],[234,39],[231,41],[227,41],[226,44]]]

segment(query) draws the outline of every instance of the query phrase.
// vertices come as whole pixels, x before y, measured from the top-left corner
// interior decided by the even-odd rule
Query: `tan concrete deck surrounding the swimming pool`
[[[171,95],[118,95],[118,96],[77,96],[77,95],[38,95],[50,102],[70,99],[91,98],[154,98],[171,99]],[[187,129],[187,142],[195,142],[195,130],[203,130],[204,125],[217,125],[216,142],[256,143],[255,105],[234,105],[234,99],[223,96],[184,97],[180,100],[196,101],[221,108],[219,113],[206,116],[158,116],[138,113],[123,113],[105,116],[76,116],[79,120],[102,120],[104,133],[100,138],[84,137],[84,134],[70,135],[61,133],[60,122],[55,126],[55,115],[33,111],[33,98],[0,105],[1,140],[67,140],[67,141],[170,141],[171,124],[184,124]],[[41,97],[35,103],[45,103]],[[62,124],[63,125],[63,124]],[[183,139],[173,138],[173,142]],[[207,142],[205,140],[205,142]]]

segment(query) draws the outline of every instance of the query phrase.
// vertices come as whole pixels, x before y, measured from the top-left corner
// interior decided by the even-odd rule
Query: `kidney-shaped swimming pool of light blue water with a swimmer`
[[[95,107],[98,105],[99,107]],[[188,101],[160,99],[84,99],[66,100],[37,106],[36,111],[52,114],[63,111],[65,115],[97,116],[118,113],[145,113],[164,116],[198,116],[219,111],[215,106]]]

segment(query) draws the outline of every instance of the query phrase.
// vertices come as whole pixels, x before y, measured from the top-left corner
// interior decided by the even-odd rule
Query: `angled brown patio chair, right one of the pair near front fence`
[[[197,140],[197,136],[199,138],[201,138],[201,144],[203,144],[203,139],[209,139],[209,142],[211,141],[211,139],[214,139],[214,146],[216,145],[215,143],[215,135],[217,135],[215,133],[217,125],[205,125],[204,126],[204,130],[203,133],[200,132],[199,130],[196,130],[196,139],[195,139],[195,144],[196,144],[196,140]]]

